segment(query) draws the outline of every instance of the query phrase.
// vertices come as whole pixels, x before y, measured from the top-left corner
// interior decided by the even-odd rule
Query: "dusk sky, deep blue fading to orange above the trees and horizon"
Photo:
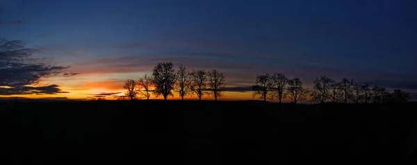
[[[259,73],[300,77],[306,87],[321,75],[352,78],[414,96],[416,7],[414,0],[0,0],[0,37],[26,42],[39,50],[32,58],[73,75],[40,78],[58,94],[0,97],[111,99],[158,62],[224,72],[224,100],[254,99],[248,90]]]

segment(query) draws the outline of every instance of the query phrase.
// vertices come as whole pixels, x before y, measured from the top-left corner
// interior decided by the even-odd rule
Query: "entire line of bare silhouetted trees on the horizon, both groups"
[[[189,71],[182,65],[174,69],[172,62],[162,62],[154,67],[152,76],[145,74],[139,80],[126,80],[125,96],[117,99],[136,100],[140,94],[149,100],[154,94],[162,95],[166,100],[168,96],[174,96],[174,92],[177,92],[181,100],[195,94],[199,100],[204,95],[210,95],[217,101],[224,96],[224,80],[224,73],[216,69]],[[388,92],[384,87],[370,87],[366,83],[354,83],[354,80],[347,78],[338,82],[327,76],[318,76],[313,82],[313,87],[309,89],[303,87],[300,78],[287,78],[282,73],[259,74],[252,85],[252,91],[254,97],[259,97],[265,102],[277,99],[279,103],[284,98],[290,99],[292,103],[406,103],[411,99],[408,93],[400,89]]]

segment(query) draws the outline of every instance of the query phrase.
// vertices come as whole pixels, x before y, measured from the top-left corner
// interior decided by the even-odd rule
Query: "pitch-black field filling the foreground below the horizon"
[[[2,162],[413,163],[416,104],[1,104]],[[416,139],[411,140],[411,139]]]

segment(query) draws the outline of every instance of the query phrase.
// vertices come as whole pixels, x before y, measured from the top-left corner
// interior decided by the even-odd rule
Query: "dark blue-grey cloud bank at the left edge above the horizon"
[[[58,94],[58,85],[37,86],[41,78],[58,76],[69,67],[36,62],[29,58],[36,49],[19,40],[0,39],[0,94]]]

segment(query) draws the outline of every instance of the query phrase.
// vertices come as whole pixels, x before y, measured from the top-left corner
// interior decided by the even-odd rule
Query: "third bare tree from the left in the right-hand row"
[[[288,80],[288,98],[291,99],[295,104],[298,101],[306,100],[307,94],[309,93],[308,89],[302,87],[302,81],[300,78],[293,78]]]

